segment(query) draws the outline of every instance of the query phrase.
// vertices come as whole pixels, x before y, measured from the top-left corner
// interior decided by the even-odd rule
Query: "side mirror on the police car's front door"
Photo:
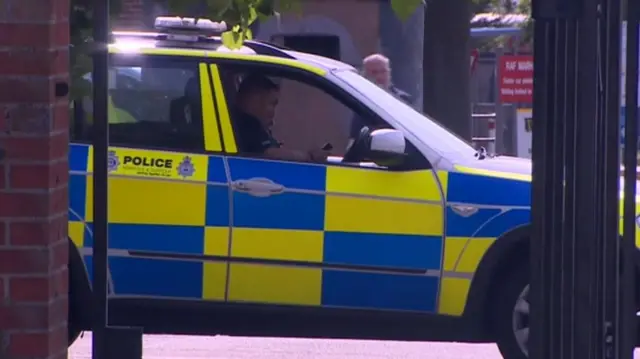
[[[380,129],[369,136],[369,155],[380,166],[397,165],[405,157],[407,143],[402,132],[393,129]]]

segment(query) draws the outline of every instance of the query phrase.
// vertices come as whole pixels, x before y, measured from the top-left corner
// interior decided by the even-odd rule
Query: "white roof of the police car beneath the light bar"
[[[154,32],[117,31],[117,32],[114,32],[113,34],[114,34],[115,41],[112,44],[112,46],[116,45],[117,47],[128,48],[129,50],[134,50],[134,51],[136,48],[139,48],[139,49],[166,48],[166,49],[172,49],[172,50],[179,50],[175,52],[172,51],[171,55],[173,56],[186,55],[186,56],[198,57],[198,56],[203,56],[203,52],[206,52],[207,53],[206,55],[212,56],[212,57],[216,57],[215,55],[216,53],[226,53],[227,56],[225,57],[227,58],[228,58],[228,54],[238,54],[240,56],[244,55],[242,56],[242,58],[245,60],[250,59],[250,56],[247,57],[246,55],[270,56],[273,58],[278,58],[278,56],[275,56],[275,55],[263,55],[263,54],[257,55],[254,50],[252,50],[247,46],[242,46],[242,48],[238,50],[229,50],[226,47],[221,46],[220,44],[215,46],[213,45],[206,46],[206,47],[188,46],[187,44],[185,44],[185,46],[179,46],[179,47],[164,46],[160,44],[159,41],[157,40],[160,34],[154,33]],[[215,40],[219,40],[219,38],[211,38],[211,40],[215,41]],[[282,52],[288,55],[289,57],[292,57],[292,59],[288,59],[288,60],[299,61],[306,65],[320,68],[327,72],[340,71],[340,70],[354,70],[353,66],[338,60],[330,59],[328,57],[284,49],[279,47],[278,45],[269,44],[267,42],[262,42],[262,41],[253,41],[253,42],[265,44],[267,46],[270,46],[272,49],[275,49],[275,51]]]

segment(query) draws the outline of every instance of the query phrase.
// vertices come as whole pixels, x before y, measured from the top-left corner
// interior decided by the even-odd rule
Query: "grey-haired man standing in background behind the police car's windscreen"
[[[364,58],[362,61],[363,75],[376,85],[389,91],[392,95],[406,102],[408,105],[413,104],[413,98],[408,93],[400,90],[393,85],[391,80],[391,63],[389,58],[382,54],[372,54]],[[349,133],[349,144],[351,144],[360,133],[365,122],[360,116],[355,115],[351,120],[351,130]]]

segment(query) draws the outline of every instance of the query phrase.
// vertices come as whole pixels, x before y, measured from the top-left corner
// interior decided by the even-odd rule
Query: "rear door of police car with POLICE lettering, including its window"
[[[135,119],[109,126],[114,295],[224,300],[229,199],[208,66],[113,54],[110,71],[128,69],[140,74],[135,88],[109,85],[113,106]],[[90,136],[89,126],[71,146],[69,225],[89,270],[94,164],[82,142]]]

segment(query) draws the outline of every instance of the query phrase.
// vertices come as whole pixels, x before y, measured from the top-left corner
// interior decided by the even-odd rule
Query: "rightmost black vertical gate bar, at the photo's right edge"
[[[637,337],[636,317],[636,178],[638,166],[638,38],[640,2],[627,1],[627,53],[624,131],[624,209],[622,241],[622,305],[620,358],[633,358]]]

